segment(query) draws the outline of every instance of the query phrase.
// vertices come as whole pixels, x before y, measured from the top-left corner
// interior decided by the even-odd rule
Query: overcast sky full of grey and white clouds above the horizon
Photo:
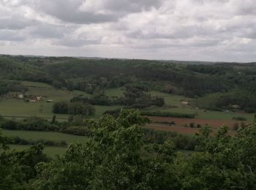
[[[0,54],[256,61],[256,3],[0,0]]]

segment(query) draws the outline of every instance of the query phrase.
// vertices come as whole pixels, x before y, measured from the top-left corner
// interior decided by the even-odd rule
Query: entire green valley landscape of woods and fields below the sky
[[[0,56],[0,189],[255,189],[255,112],[255,63]]]

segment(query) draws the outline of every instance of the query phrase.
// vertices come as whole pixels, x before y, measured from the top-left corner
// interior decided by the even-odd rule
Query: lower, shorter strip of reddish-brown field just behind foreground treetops
[[[198,128],[190,128],[190,127],[182,127],[182,126],[165,126],[163,124],[152,123],[145,126],[146,129],[155,129],[164,132],[177,132],[181,134],[195,134],[198,133],[200,129]],[[229,130],[228,134],[233,135],[235,131]]]

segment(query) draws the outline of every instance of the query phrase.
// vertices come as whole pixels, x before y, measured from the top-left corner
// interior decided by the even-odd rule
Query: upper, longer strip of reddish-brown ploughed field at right
[[[230,129],[233,128],[234,123],[238,123],[241,125],[241,121],[233,121],[233,120],[211,120],[211,119],[200,119],[200,118],[167,118],[167,117],[148,117],[151,119],[153,123],[157,122],[175,122],[176,126],[189,126],[189,123],[200,124],[201,126],[205,126],[206,124],[212,126],[214,129],[218,129],[220,126],[227,125]],[[244,122],[248,123],[248,122]]]

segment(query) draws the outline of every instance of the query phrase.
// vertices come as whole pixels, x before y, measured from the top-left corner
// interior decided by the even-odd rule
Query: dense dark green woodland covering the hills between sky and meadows
[[[18,82],[48,83],[69,91],[80,90],[92,98],[76,97],[73,102],[124,104],[144,108],[161,106],[164,99],[151,96],[156,90],[197,99],[198,107],[209,110],[256,111],[256,64],[184,64],[172,61],[81,59],[55,57],[0,56],[0,94],[26,91]],[[122,87],[122,98],[105,96],[104,90]]]

